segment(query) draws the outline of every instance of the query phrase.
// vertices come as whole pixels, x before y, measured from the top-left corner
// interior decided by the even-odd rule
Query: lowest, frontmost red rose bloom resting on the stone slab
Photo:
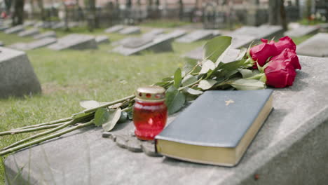
[[[268,63],[266,69],[266,84],[275,88],[285,88],[293,85],[296,72],[293,65],[289,62],[273,60]]]

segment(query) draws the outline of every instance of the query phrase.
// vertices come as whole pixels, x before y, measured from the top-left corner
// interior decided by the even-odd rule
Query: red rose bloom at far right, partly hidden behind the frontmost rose
[[[301,64],[299,64],[299,57],[297,57],[294,50],[286,48],[285,50],[275,57],[271,58],[271,61],[287,62],[292,64],[294,69],[301,69]]]

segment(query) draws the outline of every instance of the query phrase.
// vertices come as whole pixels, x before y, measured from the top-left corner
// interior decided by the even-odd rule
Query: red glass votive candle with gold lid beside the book
[[[167,119],[165,89],[159,86],[138,88],[133,107],[133,123],[137,138],[153,140],[163,130]]]

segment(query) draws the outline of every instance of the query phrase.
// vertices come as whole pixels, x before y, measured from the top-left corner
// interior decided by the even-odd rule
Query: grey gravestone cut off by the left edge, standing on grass
[[[27,55],[0,47],[0,98],[34,93],[41,93],[41,85]]]

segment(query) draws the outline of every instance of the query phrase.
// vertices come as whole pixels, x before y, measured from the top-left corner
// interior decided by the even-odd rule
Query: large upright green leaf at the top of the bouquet
[[[231,36],[217,36],[203,47],[203,60],[217,61],[224,50],[231,45]]]

